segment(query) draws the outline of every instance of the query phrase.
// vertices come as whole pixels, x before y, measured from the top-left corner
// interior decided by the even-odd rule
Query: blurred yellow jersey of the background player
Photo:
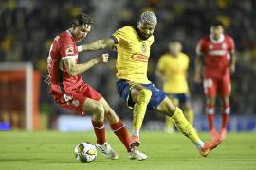
[[[163,84],[163,90],[166,93],[189,93],[187,83],[189,62],[189,57],[181,52],[176,57],[170,53],[160,57],[157,68],[166,77]]]

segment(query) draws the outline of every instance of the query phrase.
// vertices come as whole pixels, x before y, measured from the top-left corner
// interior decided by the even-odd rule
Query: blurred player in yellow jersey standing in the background
[[[192,124],[193,111],[187,82],[190,59],[181,50],[181,42],[171,41],[169,53],[162,55],[158,61],[156,75],[163,81],[164,92],[172,98],[176,106],[180,106],[185,117]],[[166,131],[174,132],[174,122],[169,116],[166,116]]]

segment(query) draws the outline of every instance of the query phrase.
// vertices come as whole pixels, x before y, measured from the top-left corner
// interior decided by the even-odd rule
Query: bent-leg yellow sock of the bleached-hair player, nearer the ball
[[[148,103],[151,99],[152,92],[148,89],[142,89],[137,94],[137,102],[134,106],[133,127],[139,131],[147,110]]]

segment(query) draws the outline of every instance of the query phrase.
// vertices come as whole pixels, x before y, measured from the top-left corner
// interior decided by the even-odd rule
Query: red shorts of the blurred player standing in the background
[[[231,92],[231,82],[229,74],[226,74],[222,77],[204,77],[204,90],[205,94],[209,97],[216,96],[229,96]]]

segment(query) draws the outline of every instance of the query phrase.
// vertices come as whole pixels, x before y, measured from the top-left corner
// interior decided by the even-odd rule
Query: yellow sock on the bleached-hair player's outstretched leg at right
[[[176,107],[174,115],[172,116],[175,126],[188,138],[192,140],[194,144],[198,144],[200,138],[198,137],[195,129],[184,117],[182,110]]]

